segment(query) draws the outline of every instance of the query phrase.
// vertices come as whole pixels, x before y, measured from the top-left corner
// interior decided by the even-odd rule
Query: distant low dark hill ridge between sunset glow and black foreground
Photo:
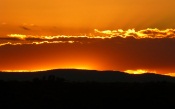
[[[78,69],[54,69],[39,72],[0,72],[0,80],[33,80],[54,75],[69,82],[175,82],[175,78],[154,73],[128,74],[120,71],[96,71]]]

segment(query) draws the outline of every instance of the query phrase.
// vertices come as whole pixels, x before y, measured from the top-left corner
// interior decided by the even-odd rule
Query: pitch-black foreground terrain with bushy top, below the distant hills
[[[51,74],[32,80],[1,80],[0,109],[168,109],[175,106],[175,83],[171,77],[140,82],[81,82]]]

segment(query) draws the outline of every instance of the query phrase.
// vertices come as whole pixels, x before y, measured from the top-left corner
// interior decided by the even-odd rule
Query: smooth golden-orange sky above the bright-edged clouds
[[[175,25],[174,6],[174,0],[1,0],[0,22],[17,32],[19,26],[34,25],[48,31],[53,27],[166,29]]]

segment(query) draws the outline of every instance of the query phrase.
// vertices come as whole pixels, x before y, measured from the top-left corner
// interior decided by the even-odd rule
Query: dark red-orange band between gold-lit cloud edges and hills
[[[7,40],[17,40],[22,45],[0,46],[1,70],[79,68],[175,72],[175,38],[72,38],[73,43],[43,44],[23,44],[23,41],[31,42],[41,39],[7,38]],[[63,38],[62,40],[67,39]],[[70,39],[68,38],[68,40]]]

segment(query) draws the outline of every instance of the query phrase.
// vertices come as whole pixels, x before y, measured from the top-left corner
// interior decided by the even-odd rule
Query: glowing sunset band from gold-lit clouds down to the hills
[[[175,70],[172,61],[175,54],[174,33],[174,29],[95,29],[94,33],[80,36],[9,34],[0,37],[0,56],[4,57],[1,58],[0,69],[18,72],[57,68],[120,70],[129,74],[151,72],[173,75],[170,72]],[[157,66],[162,66],[162,69]],[[170,71],[166,70],[168,67]],[[128,70],[135,68],[139,70]]]

